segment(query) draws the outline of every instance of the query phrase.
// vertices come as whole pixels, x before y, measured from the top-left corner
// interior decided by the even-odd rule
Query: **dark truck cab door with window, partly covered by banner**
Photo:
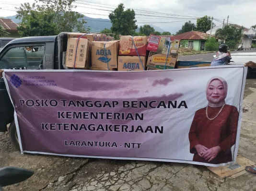
[[[0,69],[39,69],[44,62],[45,44],[12,45],[0,55]],[[0,78],[0,132],[14,119],[14,109],[3,78]]]

